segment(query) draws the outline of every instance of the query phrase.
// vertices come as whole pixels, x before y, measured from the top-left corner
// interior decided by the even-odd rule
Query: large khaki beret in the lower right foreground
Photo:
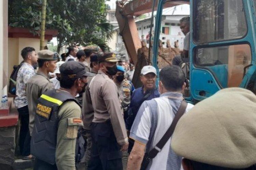
[[[173,151],[205,164],[247,168],[256,164],[256,96],[226,88],[184,114],[172,135]]]

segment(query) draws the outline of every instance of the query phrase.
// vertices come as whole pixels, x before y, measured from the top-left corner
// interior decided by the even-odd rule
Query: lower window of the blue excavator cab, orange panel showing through
[[[195,66],[209,70],[222,88],[239,87],[246,73],[244,68],[251,62],[252,54],[248,44],[195,50]]]

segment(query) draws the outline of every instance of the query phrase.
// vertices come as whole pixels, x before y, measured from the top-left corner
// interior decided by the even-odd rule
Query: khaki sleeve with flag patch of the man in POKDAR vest
[[[74,101],[66,101],[60,106],[58,117],[60,121],[57,132],[56,165],[58,170],[75,170],[77,131],[79,126],[83,125],[81,108]]]

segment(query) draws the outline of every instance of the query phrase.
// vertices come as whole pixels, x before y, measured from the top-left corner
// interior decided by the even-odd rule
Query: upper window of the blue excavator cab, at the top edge
[[[243,1],[196,0],[194,3],[195,44],[238,39],[246,35]]]

